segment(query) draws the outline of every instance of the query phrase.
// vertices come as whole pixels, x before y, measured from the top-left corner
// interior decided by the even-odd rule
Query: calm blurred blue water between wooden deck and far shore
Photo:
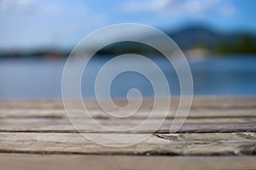
[[[163,58],[153,60],[166,75],[171,94],[178,95],[179,83],[172,65]],[[107,61],[108,58],[104,57],[94,58],[84,70],[81,89],[84,98],[95,98],[96,74]],[[134,64],[143,66],[136,59]],[[64,65],[65,60],[1,59],[0,99],[61,98]],[[122,65],[125,61],[117,66]],[[256,56],[190,59],[189,65],[195,95],[256,95]],[[136,72],[124,72],[116,77],[111,85],[111,94],[122,98],[131,88],[138,88],[143,96],[154,95],[148,79]]]

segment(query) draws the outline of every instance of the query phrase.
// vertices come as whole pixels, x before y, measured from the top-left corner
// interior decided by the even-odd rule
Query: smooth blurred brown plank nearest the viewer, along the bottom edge
[[[113,161],[114,160],[114,161]],[[0,165],[5,170],[253,170],[254,156],[77,156],[0,154]]]

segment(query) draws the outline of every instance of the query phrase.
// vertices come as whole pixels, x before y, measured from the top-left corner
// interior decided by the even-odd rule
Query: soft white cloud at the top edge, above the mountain
[[[218,0],[142,0],[129,1],[122,5],[125,12],[154,13],[165,15],[201,15],[207,13],[230,16],[236,8],[225,1]]]

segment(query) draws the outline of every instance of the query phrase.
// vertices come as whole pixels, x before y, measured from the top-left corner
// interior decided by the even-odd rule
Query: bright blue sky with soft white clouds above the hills
[[[73,48],[91,31],[133,22],[256,32],[254,0],[0,0],[0,49]]]

